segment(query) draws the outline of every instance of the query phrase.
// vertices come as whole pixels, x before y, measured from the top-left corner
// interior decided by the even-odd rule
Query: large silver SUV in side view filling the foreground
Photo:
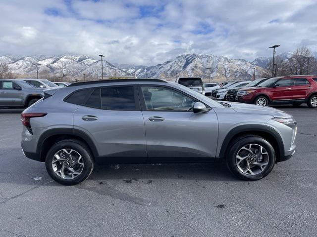
[[[159,79],[79,82],[45,91],[21,114],[26,157],[74,185],[94,162],[225,160],[244,180],[265,177],[295,152],[296,122],[282,111],[215,102]]]

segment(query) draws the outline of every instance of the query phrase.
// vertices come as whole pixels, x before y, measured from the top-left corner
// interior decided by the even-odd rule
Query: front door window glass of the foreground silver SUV
[[[192,111],[195,100],[170,88],[142,86],[148,111]]]

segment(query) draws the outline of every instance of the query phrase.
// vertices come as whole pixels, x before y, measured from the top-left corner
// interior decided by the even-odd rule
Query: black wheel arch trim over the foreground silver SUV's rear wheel
[[[74,129],[74,128],[52,128],[52,129],[45,131],[39,138],[38,145],[36,148],[36,153],[38,154],[38,156],[40,157],[41,160],[45,160],[45,158],[42,157],[42,146],[43,146],[44,142],[46,141],[46,139],[48,139],[54,135],[78,136],[78,137],[82,138],[88,144],[89,148],[91,149],[91,151],[95,157],[99,156],[98,150],[95,146],[95,143],[93,142],[93,140],[90,138],[90,136],[87,133],[85,133],[81,130],[78,130],[78,129]]]

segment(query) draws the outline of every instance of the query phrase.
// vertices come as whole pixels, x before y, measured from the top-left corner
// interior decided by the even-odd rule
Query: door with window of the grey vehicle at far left
[[[1,80],[0,81],[0,105],[23,105],[22,90],[14,89],[20,87],[13,81]]]

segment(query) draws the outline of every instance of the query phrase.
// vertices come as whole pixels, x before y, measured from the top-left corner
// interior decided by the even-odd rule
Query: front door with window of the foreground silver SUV
[[[194,114],[197,100],[169,86],[139,87],[148,157],[214,158],[218,120],[213,110]]]

